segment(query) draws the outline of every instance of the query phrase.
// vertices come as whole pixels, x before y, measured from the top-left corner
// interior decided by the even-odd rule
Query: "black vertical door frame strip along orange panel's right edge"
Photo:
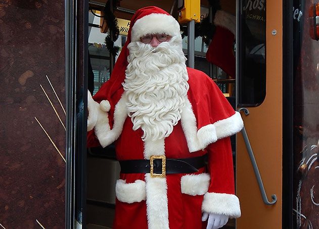
[[[282,228],[293,228],[293,0],[283,0]]]

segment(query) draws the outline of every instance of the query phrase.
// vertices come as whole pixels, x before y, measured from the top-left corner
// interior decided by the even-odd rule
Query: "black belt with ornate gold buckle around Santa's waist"
[[[166,158],[165,155],[151,156],[150,160],[121,160],[122,174],[147,174],[165,177],[166,174],[191,174],[205,166],[205,157]]]

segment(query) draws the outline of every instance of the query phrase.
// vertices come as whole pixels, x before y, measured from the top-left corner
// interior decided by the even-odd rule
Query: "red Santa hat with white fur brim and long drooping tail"
[[[110,100],[113,94],[122,88],[125,70],[128,65],[127,56],[129,55],[129,50],[127,45],[130,42],[139,41],[144,35],[161,33],[171,37],[181,37],[179,24],[170,14],[154,6],[145,7],[135,12],[130,21],[126,43],[119,54],[110,80],[103,84],[99,92],[94,96],[96,101]]]

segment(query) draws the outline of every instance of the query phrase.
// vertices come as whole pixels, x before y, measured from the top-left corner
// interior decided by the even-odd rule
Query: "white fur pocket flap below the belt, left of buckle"
[[[116,198],[125,203],[141,202],[146,200],[145,182],[136,180],[134,183],[126,183],[125,180],[117,180],[115,185]]]

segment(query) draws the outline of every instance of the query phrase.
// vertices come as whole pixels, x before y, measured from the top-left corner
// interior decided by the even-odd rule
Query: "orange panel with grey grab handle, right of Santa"
[[[264,188],[275,205],[262,201],[242,134],[237,146],[237,195],[242,216],[237,229],[282,228],[282,1],[266,2],[266,98],[257,107],[248,107],[244,125],[259,167]],[[271,35],[273,29],[277,35]]]

